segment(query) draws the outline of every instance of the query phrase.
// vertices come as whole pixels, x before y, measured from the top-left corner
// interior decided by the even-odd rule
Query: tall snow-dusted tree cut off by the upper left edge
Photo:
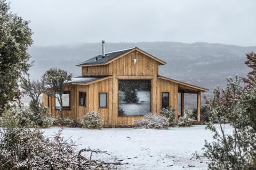
[[[0,109],[19,99],[18,82],[31,66],[26,52],[33,43],[29,22],[9,10],[9,4],[0,0]]]

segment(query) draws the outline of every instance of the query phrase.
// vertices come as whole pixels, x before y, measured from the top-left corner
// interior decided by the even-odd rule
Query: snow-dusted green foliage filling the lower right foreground
[[[211,161],[209,169],[255,169],[256,165],[256,84],[244,88],[242,79],[228,78],[227,88],[213,91],[210,100],[210,122],[207,129],[214,141],[205,143],[204,155]],[[227,133],[228,122],[233,133]]]

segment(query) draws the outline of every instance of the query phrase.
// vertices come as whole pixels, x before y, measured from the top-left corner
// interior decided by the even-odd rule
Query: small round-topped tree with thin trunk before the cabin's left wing
[[[45,79],[45,83],[52,88],[55,98],[57,98],[59,101],[60,118],[62,119],[62,95],[64,92],[65,84],[71,80],[72,74],[67,73],[65,70],[51,68],[44,73],[43,78]]]

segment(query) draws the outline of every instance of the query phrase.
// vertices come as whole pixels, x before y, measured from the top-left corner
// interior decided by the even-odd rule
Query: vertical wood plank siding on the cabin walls
[[[133,59],[136,59],[134,64]],[[63,109],[63,116],[73,120],[82,120],[90,112],[99,112],[102,124],[105,126],[134,125],[134,121],[143,116],[118,116],[118,78],[143,80],[143,76],[151,79],[151,112],[158,114],[162,107],[162,92],[169,92],[169,105],[176,109],[178,115],[178,84],[159,79],[158,61],[138,51],[133,51],[114,60],[107,65],[82,67],[83,76],[107,76],[112,78],[91,83],[89,85],[68,84],[65,90],[70,91],[70,109]],[[151,77],[150,77],[151,76]],[[120,78],[121,79],[121,78]],[[79,92],[86,92],[86,106],[79,106]],[[107,92],[107,107],[99,107],[99,93]],[[47,106],[47,95],[43,95],[44,105]],[[50,98],[51,116],[58,117],[55,110],[55,99]]]

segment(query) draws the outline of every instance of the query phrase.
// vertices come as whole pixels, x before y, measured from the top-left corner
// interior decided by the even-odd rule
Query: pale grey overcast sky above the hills
[[[255,0],[7,0],[36,46],[178,41],[256,46]]]

